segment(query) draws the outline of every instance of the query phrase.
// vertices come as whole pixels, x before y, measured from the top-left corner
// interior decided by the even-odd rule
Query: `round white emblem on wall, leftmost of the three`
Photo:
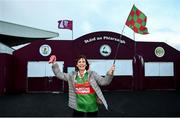
[[[41,45],[39,48],[39,53],[42,56],[49,56],[51,54],[51,47],[47,44]]]

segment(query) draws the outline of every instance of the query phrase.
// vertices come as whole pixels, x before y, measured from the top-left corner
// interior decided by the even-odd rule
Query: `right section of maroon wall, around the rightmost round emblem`
[[[156,47],[163,47],[165,55],[157,57],[154,53]],[[163,42],[138,42],[137,52],[138,55],[143,57],[144,62],[174,62],[174,77],[144,77],[144,89],[176,89],[176,81],[180,77],[178,71],[180,69],[179,51],[170,47]]]

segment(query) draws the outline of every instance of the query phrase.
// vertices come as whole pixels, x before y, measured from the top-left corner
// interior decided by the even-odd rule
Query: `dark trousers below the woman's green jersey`
[[[73,117],[97,117],[98,111],[96,112],[80,112],[73,110]]]

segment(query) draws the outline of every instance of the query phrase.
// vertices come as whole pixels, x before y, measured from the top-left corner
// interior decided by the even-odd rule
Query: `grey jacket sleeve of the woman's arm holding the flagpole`
[[[101,86],[109,85],[113,79],[113,75],[109,75],[108,72],[106,73],[105,77],[100,76],[96,72],[92,71],[94,79],[97,83]]]

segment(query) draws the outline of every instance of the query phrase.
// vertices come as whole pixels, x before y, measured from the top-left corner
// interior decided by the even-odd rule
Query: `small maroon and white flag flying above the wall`
[[[69,29],[72,30],[73,22],[71,20],[59,20],[58,28],[59,29]]]

